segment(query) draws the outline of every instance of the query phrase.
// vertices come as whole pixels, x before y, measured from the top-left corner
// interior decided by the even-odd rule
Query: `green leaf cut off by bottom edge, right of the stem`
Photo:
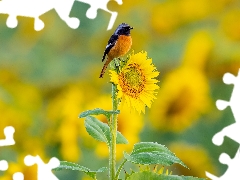
[[[136,180],[136,179],[137,180],[205,180],[204,178],[196,178],[192,176],[156,174],[148,171],[133,173],[126,180]]]

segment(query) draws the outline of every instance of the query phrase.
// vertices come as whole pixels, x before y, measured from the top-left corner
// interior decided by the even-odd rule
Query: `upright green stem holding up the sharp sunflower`
[[[112,107],[113,111],[117,111],[117,87],[112,84]],[[117,144],[117,114],[112,114],[110,122],[111,142],[110,142],[110,157],[109,157],[109,179],[114,180],[116,174],[116,144]]]

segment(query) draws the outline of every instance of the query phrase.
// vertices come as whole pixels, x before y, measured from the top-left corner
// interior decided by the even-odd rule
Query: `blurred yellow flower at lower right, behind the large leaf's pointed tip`
[[[172,170],[178,171],[177,174],[204,178],[206,177],[205,171],[216,173],[216,168],[211,163],[211,157],[202,146],[178,142],[171,144],[169,149],[189,168],[173,165]]]

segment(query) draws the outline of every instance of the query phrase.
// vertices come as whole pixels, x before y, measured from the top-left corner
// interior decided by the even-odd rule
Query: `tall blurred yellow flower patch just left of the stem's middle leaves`
[[[82,103],[82,91],[80,86],[75,84],[65,87],[48,106],[49,123],[53,124],[48,136],[55,137],[53,139],[60,142],[60,152],[66,161],[76,162],[81,155],[78,140],[82,121],[78,119],[78,114],[81,112]],[[58,126],[54,127],[57,124]]]

